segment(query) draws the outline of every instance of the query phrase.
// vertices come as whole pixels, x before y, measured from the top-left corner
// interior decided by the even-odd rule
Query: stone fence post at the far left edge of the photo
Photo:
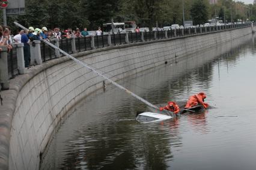
[[[2,51],[0,52],[0,83],[2,90],[8,90],[10,87],[8,77],[8,61],[7,61],[7,47],[0,46]]]

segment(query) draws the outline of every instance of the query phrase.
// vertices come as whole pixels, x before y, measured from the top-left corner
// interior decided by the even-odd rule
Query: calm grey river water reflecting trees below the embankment
[[[139,123],[147,106],[109,85],[53,134],[40,169],[256,169],[256,45],[251,35],[118,81],[153,104],[207,94],[212,108]]]

